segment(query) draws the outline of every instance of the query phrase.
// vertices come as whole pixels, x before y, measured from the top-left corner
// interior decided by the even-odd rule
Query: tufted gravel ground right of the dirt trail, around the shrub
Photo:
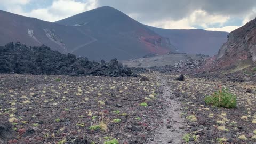
[[[175,81],[178,75],[173,74],[164,77],[175,97],[182,102],[181,116],[186,118],[188,124],[185,136],[189,143],[256,143],[255,85],[195,77]],[[237,96],[236,108],[206,105],[204,98],[218,91],[219,85]]]

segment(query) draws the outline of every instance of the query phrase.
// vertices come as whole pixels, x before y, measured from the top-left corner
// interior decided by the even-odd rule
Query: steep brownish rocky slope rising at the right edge
[[[218,52],[215,68],[225,68],[239,61],[256,62],[256,19],[228,35]]]

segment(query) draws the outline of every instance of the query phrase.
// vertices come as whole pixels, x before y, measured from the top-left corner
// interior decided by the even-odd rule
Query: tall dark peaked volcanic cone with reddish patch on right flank
[[[94,42],[77,47],[74,54],[90,53],[89,58],[127,59],[149,53],[174,51],[169,39],[159,36],[141,23],[112,7],[100,7],[55,23],[76,26],[90,34]],[[98,55],[98,56],[97,56]]]

